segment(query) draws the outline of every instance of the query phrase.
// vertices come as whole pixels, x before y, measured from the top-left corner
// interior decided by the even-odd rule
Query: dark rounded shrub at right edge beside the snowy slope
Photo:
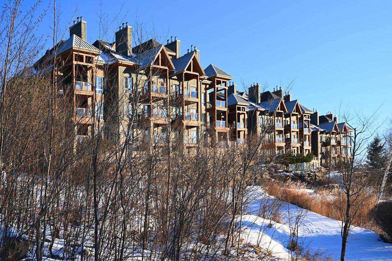
[[[379,203],[373,208],[372,216],[379,228],[385,232],[388,241],[392,241],[392,201]]]

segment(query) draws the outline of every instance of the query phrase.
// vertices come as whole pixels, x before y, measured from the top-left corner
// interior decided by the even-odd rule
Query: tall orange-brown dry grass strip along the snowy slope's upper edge
[[[309,194],[304,190],[307,186],[304,183],[288,181],[287,183],[271,181],[266,184],[265,190],[271,196],[280,200],[291,203],[301,208],[318,213],[325,217],[336,220],[342,220],[346,210],[346,199],[342,193],[330,190],[317,190]],[[358,214],[355,215],[352,225],[373,229],[370,223],[370,213],[376,198],[361,194],[352,200],[352,209],[358,208]]]

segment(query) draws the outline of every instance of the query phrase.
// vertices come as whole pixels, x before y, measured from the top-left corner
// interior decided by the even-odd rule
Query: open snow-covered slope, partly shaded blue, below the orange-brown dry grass
[[[272,225],[268,225],[270,221],[260,217],[260,206],[265,201],[276,199],[265,194],[260,187],[249,187],[249,189],[252,201],[246,208],[246,215],[242,217],[242,225],[246,228],[241,237],[255,245],[258,240],[260,241],[259,232],[263,231],[260,246],[271,250],[273,256],[288,259],[290,252],[287,246],[289,246],[290,231],[292,231],[289,220],[293,224],[296,216],[301,216],[298,218],[300,244],[314,252],[325,252],[325,256],[332,255],[334,260],[340,259],[340,221],[283,203],[280,207],[281,223],[272,222]],[[392,260],[392,244],[384,243],[380,236],[371,230],[352,227],[347,244],[346,260]]]

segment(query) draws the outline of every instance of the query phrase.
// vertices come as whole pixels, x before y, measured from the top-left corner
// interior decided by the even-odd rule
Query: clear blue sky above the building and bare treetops
[[[77,7],[87,21],[87,41],[98,38],[96,1],[58,3],[62,28]],[[341,101],[367,114],[384,103],[380,122],[392,113],[392,1],[105,0],[102,7],[110,19],[121,4],[111,34],[122,22],[133,26],[137,13],[162,42],[177,36],[181,54],[196,45],[203,68],[213,63],[240,89],[241,80],[267,82],[272,90],[296,78],[293,98],[321,114],[337,113]],[[49,13],[39,33],[50,30],[50,21]]]

